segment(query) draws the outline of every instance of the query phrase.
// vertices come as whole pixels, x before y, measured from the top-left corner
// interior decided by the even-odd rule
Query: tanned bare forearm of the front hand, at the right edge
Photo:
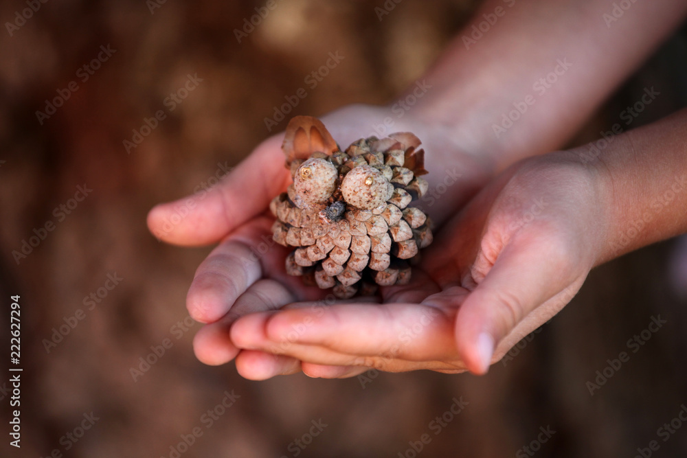
[[[687,232],[687,110],[618,136],[594,164],[608,203],[599,264]]]

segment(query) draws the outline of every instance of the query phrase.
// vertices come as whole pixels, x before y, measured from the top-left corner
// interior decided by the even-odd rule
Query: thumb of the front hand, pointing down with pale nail
[[[574,262],[556,242],[513,242],[458,310],[455,341],[474,374],[486,374],[496,349],[502,356],[559,312],[584,280],[570,281]]]

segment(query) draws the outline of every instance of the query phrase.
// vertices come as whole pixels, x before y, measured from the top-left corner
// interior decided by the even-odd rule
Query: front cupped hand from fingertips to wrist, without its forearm
[[[569,152],[521,161],[440,228],[411,284],[382,288],[383,304],[248,314],[231,340],[300,360],[311,376],[369,367],[484,374],[559,312],[597,262],[607,227],[599,183]]]

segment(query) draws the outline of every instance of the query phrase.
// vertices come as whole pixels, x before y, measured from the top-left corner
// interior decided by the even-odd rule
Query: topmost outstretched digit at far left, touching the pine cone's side
[[[210,190],[153,207],[150,232],[172,244],[210,244],[262,213],[291,179],[281,141],[281,136],[264,141]]]

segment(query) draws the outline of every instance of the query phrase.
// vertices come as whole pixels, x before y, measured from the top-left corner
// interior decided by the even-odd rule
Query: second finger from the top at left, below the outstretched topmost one
[[[240,295],[262,277],[263,257],[256,255],[260,233],[268,233],[269,220],[258,218],[237,229],[216,247],[196,269],[186,295],[193,319],[212,323],[221,319]]]

